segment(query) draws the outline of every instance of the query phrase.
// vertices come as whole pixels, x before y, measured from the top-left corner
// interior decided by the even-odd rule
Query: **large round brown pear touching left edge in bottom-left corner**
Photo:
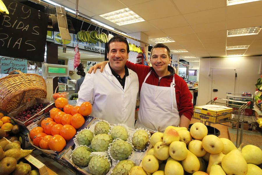
[[[0,175],[10,174],[15,170],[16,160],[13,157],[4,157],[0,160]]]

